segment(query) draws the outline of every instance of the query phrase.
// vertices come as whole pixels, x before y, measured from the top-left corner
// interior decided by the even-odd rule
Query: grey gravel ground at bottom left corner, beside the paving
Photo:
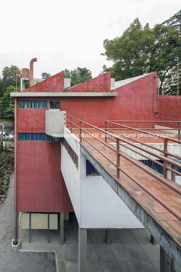
[[[56,272],[53,252],[17,252],[11,250],[14,238],[14,176],[11,177],[7,198],[0,203],[0,271]]]

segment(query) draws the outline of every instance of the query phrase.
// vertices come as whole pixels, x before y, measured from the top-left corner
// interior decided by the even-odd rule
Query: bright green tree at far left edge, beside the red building
[[[14,97],[10,97],[10,92],[15,91],[16,87],[9,86],[4,93],[4,96],[0,98],[1,118],[14,120]],[[20,91],[19,87],[17,91]]]

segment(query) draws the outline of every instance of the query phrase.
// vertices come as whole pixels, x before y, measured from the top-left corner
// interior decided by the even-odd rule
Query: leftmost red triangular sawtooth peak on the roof
[[[23,92],[63,92],[64,71],[38,83]]]

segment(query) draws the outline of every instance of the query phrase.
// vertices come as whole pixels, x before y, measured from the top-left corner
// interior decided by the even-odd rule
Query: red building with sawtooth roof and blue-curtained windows
[[[158,111],[181,114],[180,97],[157,95],[156,72],[111,82],[108,72],[64,90],[60,72],[11,93],[15,97],[16,213],[74,211],[61,172],[60,139],[45,133],[46,111],[66,112],[99,128],[104,128],[105,120],[156,121]],[[147,127],[149,123],[144,124]]]

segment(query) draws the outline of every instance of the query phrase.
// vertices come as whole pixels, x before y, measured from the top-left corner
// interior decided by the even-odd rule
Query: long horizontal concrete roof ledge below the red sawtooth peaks
[[[118,92],[11,92],[11,97],[114,97],[118,96]]]

